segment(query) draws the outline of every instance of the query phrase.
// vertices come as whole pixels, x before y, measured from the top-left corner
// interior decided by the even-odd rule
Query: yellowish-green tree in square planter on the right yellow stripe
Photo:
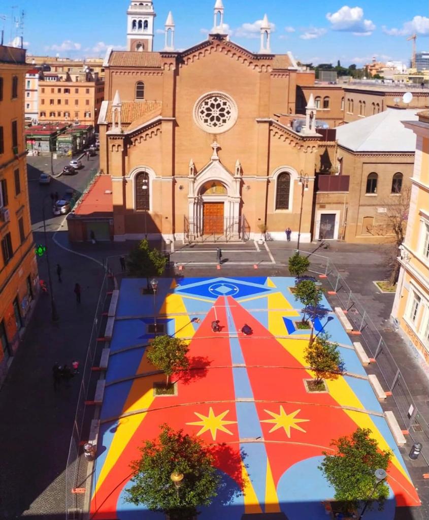
[[[344,369],[344,362],[338,350],[339,345],[331,343],[329,337],[326,332],[319,334],[304,350],[305,362],[316,372],[316,385],[320,385],[324,379],[337,379]]]

